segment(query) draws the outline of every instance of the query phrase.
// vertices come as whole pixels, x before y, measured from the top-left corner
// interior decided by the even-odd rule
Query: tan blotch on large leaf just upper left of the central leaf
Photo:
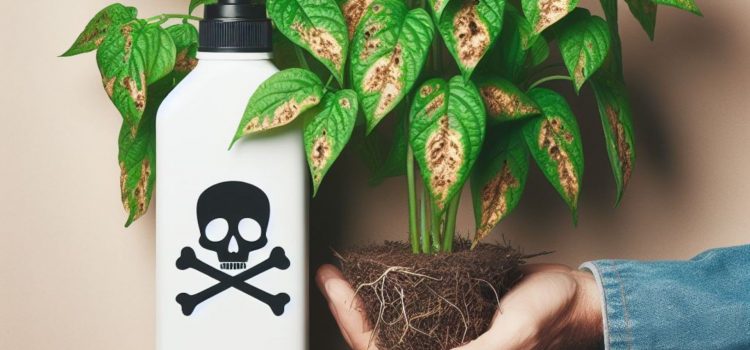
[[[404,88],[401,81],[403,58],[401,46],[396,45],[390,57],[382,57],[370,67],[362,81],[365,92],[378,92],[380,99],[375,107],[375,119],[379,120],[391,110]]]

